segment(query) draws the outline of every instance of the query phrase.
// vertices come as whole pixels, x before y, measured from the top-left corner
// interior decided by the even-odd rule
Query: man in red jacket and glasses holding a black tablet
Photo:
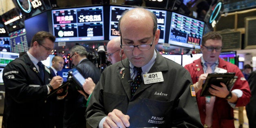
[[[201,122],[205,128],[235,128],[233,108],[245,106],[251,97],[248,82],[241,70],[219,57],[222,46],[221,34],[207,33],[202,40],[202,57],[185,65],[194,83]],[[227,86],[223,83],[221,83],[222,87],[211,85],[209,92],[214,96],[200,97],[202,85],[208,73],[218,73],[218,71],[236,73],[238,79],[232,90],[227,90]]]

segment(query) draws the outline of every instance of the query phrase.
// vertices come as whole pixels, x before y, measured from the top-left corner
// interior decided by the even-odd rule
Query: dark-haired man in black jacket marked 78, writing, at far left
[[[46,97],[62,84],[63,79],[51,77],[49,68],[41,61],[52,54],[54,42],[51,33],[36,33],[29,51],[4,68],[2,128],[50,128],[50,99]]]

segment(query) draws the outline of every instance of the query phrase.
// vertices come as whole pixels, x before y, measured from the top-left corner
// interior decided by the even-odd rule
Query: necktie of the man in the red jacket
[[[206,63],[207,65],[207,69],[206,69],[206,73],[212,73],[212,64],[210,63]],[[207,101],[209,100],[210,101]],[[214,102],[215,102],[215,97],[205,97],[205,100],[206,100],[206,104],[205,104],[205,114],[206,114],[206,117],[205,117],[205,124],[208,126],[208,127],[212,127],[212,113],[213,113],[213,107],[214,107]]]

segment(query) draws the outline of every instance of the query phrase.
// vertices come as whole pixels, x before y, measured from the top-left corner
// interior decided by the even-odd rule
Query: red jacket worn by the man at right
[[[198,82],[199,76],[204,73],[201,58],[195,60],[191,64],[185,65],[185,68],[190,72],[193,83]],[[236,106],[247,105],[251,97],[251,91],[248,82],[243,78],[241,79],[241,77],[244,76],[240,69],[236,65],[226,62],[221,58],[219,58],[218,68],[226,69],[228,73],[236,73],[238,79],[236,80],[232,90],[239,89],[243,91],[243,95],[238,98]],[[196,93],[196,101],[199,108],[201,122],[202,124],[205,124],[205,97],[200,97],[200,93],[201,90]],[[212,128],[235,128],[234,110],[225,98],[216,97],[212,116]]]

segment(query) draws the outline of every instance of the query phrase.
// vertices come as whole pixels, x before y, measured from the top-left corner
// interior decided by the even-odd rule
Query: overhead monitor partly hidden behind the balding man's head
[[[110,6],[110,22],[109,22],[109,40],[120,36],[118,29],[118,21],[121,17],[121,14],[130,10],[132,7],[123,7],[123,6]],[[167,11],[165,10],[156,10],[156,9],[148,9],[152,11],[157,16],[157,27],[160,30],[159,43],[163,43],[165,40],[166,34],[166,15]]]

